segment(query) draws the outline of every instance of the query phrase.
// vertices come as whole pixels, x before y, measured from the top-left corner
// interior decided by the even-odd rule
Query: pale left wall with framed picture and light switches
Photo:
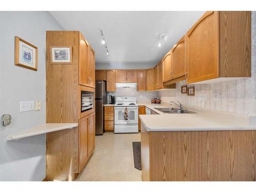
[[[0,12],[0,181],[41,181],[45,178],[44,135],[6,141],[6,137],[46,121],[46,30],[63,30],[48,12]],[[37,71],[14,65],[14,36],[38,48]],[[41,111],[19,112],[19,101],[41,100]]]

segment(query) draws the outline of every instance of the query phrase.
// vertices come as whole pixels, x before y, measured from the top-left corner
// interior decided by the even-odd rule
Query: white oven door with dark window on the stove
[[[124,120],[124,111],[127,108],[128,120]],[[115,124],[138,124],[138,106],[115,106]]]

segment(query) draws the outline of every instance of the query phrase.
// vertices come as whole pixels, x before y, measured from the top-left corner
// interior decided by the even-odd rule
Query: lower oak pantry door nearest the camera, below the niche
[[[79,119],[79,172],[88,160],[88,116]]]

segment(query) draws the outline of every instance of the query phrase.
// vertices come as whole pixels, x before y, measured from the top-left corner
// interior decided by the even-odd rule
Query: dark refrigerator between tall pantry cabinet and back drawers
[[[104,132],[104,106],[108,103],[106,82],[95,81],[95,135],[103,135]]]

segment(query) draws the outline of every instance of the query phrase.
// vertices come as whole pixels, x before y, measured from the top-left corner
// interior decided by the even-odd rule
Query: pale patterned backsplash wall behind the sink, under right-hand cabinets
[[[176,89],[159,92],[163,102],[180,101],[188,106],[256,116],[256,12],[251,15],[251,77],[238,80],[195,84],[195,96],[181,94],[185,81]],[[190,86],[190,85],[188,85]],[[194,86],[194,85],[193,85]]]

